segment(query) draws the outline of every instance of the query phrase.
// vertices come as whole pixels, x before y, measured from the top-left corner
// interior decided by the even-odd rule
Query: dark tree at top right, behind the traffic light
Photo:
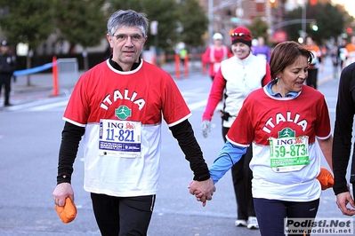
[[[302,11],[302,7],[299,7],[294,9],[292,12],[287,12],[286,20],[302,19]],[[343,32],[343,13],[341,13],[339,9],[332,4],[307,4],[306,18],[314,19],[317,22],[319,30],[313,31],[310,26],[311,23],[307,22],[306,33],[307,35],[312,35],[318,43],[330,38],[336,38]],[[296,41],[300,36],[299,31],[301,29],[301,23],[285,27],[288,39]]]

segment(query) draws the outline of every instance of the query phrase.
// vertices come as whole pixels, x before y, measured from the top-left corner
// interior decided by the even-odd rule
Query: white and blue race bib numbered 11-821
[[[121,158],[141,157],[141,122],[100,121],[99,155]]]

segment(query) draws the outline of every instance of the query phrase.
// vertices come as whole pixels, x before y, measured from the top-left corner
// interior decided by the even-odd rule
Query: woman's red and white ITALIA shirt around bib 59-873
[[[316,138],[327,139],[330,135],[327,104],[318,90],[303,86],[295,98],[276,98],[264,86],[246,98],[227,139],[233,145],[244,147],[253,141],[250,168],[254,177],[254,198],[312,201],[321,194],[319,181],[315,178],[319,175],[322,156]],[[286,144],[279,145],[278,150],[271,149],[270,138],[283,138],[284,141],[287,137],[299,138],[297,140],[302,142],[308,137],[308,141],[304,149],[296,145],[289,148]],[[281,156],[294,154],[295,158],[303,157],[304,150],[309,162],[297,170],[272,169],[271,151],[275,150]]]

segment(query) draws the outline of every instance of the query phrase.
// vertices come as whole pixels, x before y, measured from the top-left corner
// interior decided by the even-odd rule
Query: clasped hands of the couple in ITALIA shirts
[[[205,181],[193,180],[188,186],[190,193],[195,195],[197,201],[202,201],[202,206],[206,206],[206,201],[212,200],[212,195],[215,192],[214,181],[209,178]]]

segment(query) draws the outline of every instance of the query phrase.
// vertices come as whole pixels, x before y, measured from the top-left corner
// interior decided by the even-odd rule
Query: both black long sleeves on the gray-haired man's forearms
[[[210,178],[207,164],[203,158],[198,141],[194,136],[188,120],[169,128],[173,137],[177,139],[185,159],[190,161],[190,169],[194,173],[194,180],[204,181]],[[57,185],[71,183],[73,164],[77,157],[80,140],[85,133],[84,127],[65,122],[61,132],[61,148],[59,153]]]

